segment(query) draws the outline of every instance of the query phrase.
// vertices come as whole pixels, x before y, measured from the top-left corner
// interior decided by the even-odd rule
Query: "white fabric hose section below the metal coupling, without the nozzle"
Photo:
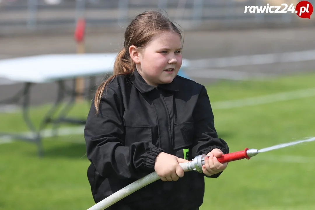
[[[180,167],[184,170],[184,172],[191,171],[188,169],[188,164],[187,163],[180,163]],[[96,203],[94,206],[90,207],[88,210],[104,210],[107,207],[110,207],[117,201],[120,201],[126,196],[129,196],[131,193],[141,189],[142,187],[157,181],[160,179],[160,177],[157,175],[156,172],[152,172],[145,177],[138,179],[137,181],[127,185],[121,190],[118,190],[114,194],[108,196],[104,200]]]

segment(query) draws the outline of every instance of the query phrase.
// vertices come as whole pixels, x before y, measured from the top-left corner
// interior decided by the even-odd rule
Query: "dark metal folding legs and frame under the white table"
[[[25,82],[24,87],[17,93],[15,96],[9,99],[5,99],[1,101],[1,104],[17,104],[20,100],[22,102],[22,114],[23,114],[23,120],[25,121],[27,127],[30,129],[32,136],[28,135],[22,135],[18,133],[0,133],[0,137],[7,136],[13,139],[17,140],[26,140],[32,143],[37,144],[38,149],[38,155],[43,156],[43,145],[42,145],[42,136],[41,131],[49,124],[53,123],[53,133],[54,135],[57,135],[58,126],[62,122],[67,122],[71,124],[80,124],[84,125],[86,120],[85,119],[74,119],[74,118],[68,118],[66,115],[71,110],[72,106],[75,103],[76,96],[82,95],[88,97],[88,99],[92,99],[92,93],[94,92],[95,88],[95,77],[89,77],[89,88],[88,90],[85,90],[83,94],[77,93],[75,91],[76,86],[76,80],[73,79],[73,86],[68,87],[65,84],[65,80],[58,80],[56,81],[58,88],[57,88],[57,98],[52,105],[52,107],[49,109],[49,111],[45,114],[43,117],[42,122],[40,123],[40,126],[38,129],[35,128],[33,122],[30,119],[30,96],[31,96],[31,88],[32,86],[36,85],[36,83],[33,82]],[[52,116],[56,113],[56,111],[60,108],[60,106],[65,101],[66,97],[70,96],[70,100],[68,103],[61,109],[59,115],[56,118],[53,118]]]

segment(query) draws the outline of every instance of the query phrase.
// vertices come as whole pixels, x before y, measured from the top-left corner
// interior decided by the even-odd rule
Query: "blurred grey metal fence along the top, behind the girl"
[[[315,0],[309,0],[315,6]],[[79,17],[87,26],[125,27],[147,9],[165,9],[189,29],[314,26],[294,13],[244,13],[245,6],[288,5],[297,0],[0,0],[0,33],[73,28]]]

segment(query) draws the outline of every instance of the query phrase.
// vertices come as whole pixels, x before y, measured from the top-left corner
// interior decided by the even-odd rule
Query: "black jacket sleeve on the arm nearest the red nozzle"
[[[195,143],[192,148],[193,157],[208,154],[215,148],[220,149],[224,154],[229,153],[227,143],[223,139],[218,138],[218,134],[216,133],[214,115],[207,90],[204,86],[199,94],[193,117],[195,122]],[[214,174],[210,177],[217,178],[221,173]],[[207,175],[205,176],[209,177]]]

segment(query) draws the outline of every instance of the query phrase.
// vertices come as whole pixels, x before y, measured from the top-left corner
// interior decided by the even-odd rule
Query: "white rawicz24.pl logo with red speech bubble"
[[[301,18],[311,18],[313,13],[313,6],[308,1],[301,1],[294,6],[294,4],[283,3],[281,6],[245,6],[244,13],[296,13]]]

